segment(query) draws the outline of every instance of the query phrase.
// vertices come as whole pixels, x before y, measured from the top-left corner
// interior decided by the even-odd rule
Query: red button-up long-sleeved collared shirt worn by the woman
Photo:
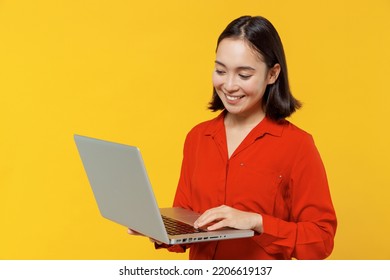
[[[190,246],[190,259],[324,259],[336,215],[310,134],[261,121],[228,158],[224,113],[187,135],[174,206],[199,213],[222,204],[259,213],[262,234]],[[170,251],[182,251],[173,246]]]

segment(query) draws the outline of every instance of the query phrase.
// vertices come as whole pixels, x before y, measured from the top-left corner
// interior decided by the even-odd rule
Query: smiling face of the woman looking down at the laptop
[[[218,45],[213,86],[229,114],[264,115],[261,106],[268,84],[276,81],[279,64],[269,69],[260,54],[241,39],[223,39]]]

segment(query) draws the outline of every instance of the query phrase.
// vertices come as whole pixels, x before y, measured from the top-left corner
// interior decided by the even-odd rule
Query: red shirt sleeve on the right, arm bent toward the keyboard
[[[285,258],[324,259],[333,250],[337,220],[320,155],[307,137],[289,179],[289,221],[263,215],[264,233],[255,238],[268,253]]]

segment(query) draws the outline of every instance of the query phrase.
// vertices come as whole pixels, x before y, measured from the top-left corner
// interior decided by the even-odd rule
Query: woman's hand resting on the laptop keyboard
[[[211,224],[213,223],[213,224]],[[207,226],[207,230],[217,230],[223,227],[236,229],[252,229],[263,232],[263,218],[260,214],[245,212],[221,205],[204,212],[194,223],[195,228]]]

